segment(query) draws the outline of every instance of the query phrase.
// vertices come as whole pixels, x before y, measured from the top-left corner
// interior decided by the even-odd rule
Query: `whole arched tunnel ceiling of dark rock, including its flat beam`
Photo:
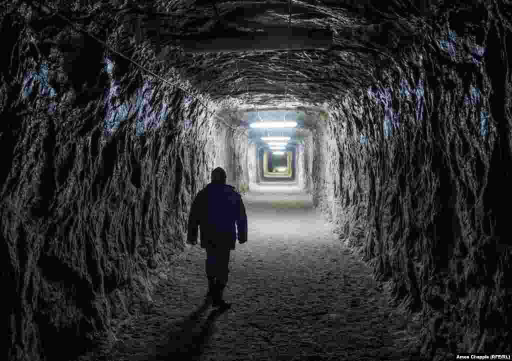
[[[434,5],[420,3],[160,1],[120,6],[119,14],[125,29],[214,100],[325,109],[368,86],[375,69],[421,33]]]

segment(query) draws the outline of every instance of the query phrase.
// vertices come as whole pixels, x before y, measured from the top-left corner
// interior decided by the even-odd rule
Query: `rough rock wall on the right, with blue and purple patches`
[[[434,360],[512,351],[509,19],[499,2],[443,14],[316,139],[318,202],[340,200],[342,237],[420,311]]]

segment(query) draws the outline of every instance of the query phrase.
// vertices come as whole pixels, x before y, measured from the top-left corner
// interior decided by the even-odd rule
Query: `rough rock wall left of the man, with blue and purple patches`
[[[233,137],[216,138],[217,121],[186,93],[21,9],[0,17],[3,352],[73,359],[151,302]],[[130,55],[162,69],[150,49]],[[237,162],[243,151],[234,146]]]

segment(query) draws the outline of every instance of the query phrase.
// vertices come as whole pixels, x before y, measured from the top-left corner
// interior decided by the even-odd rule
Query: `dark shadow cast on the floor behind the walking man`
[[[215,321],[226,311],[214,309],[203,322],[202,315],[209,306],[205,302],[184,320],[172,324],[169,333],[164,335],[162,344],[155,350],[155,360],[199,360],[216,331]]]

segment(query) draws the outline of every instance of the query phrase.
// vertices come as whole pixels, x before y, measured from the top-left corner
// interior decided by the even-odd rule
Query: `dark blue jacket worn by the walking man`
[[[238,240],[247,241],[247,215],[242,196],[230,185],[210,183],[194,199],[188,217],[187,242],[197,243],[200,228],[201,247],[234,249]]]

